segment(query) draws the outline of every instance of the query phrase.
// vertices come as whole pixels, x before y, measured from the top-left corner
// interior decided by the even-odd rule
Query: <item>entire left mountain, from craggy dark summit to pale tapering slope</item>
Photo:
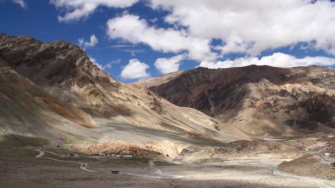
[[[122,84],[77,45],[0,34],[0,141],[6,144],[250,137],[204,113]]]

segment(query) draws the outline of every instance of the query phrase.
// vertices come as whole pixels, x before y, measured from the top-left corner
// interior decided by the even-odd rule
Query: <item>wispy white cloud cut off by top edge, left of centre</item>
[[[127,8],[138,0],[50,0],[57,8],[64,8],[64,16],[58,16],[59,22],[77,21],[89,17],[99,6],[108,8]]]

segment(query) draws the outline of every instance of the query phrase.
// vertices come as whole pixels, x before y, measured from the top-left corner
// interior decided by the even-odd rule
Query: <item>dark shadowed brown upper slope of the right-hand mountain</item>
[[[292,70],[303,71],[292,74]],[[241,108],[241,102],[250,93],[246,84],[266,79],[272,84],[281,85],[304,77],[307,70],[308,68],[274,68],[267,65],[218,70],[196,68],[149,89],[177,106],[191,107],[209,116],[216,116],[230,109],[238,111]]]

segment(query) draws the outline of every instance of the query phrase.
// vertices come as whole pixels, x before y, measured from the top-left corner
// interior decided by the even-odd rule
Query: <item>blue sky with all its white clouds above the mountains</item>
[[[197,67],[335,65],[327,0],[0,0],[0,33],[79,45],[131,82]]]

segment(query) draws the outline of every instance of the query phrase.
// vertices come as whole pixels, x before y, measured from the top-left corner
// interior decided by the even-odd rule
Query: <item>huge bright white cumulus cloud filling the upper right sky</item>
[[[221,39],[222,54],[258,55],[307,42],[335,55],[335,2],[315,0],[149,0],[168,10],[165,22],[186,27],[190,38]]]

